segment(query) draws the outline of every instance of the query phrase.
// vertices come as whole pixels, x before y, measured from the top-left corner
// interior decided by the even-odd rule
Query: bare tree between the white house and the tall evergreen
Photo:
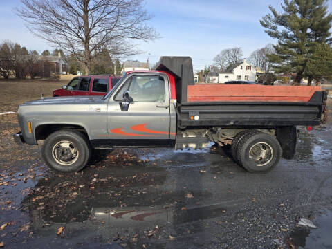
[[[264,48],[259,48],[252,52],[248,61],[253,66],[260,68],[264,73],[268,73],[270,71],[271,63],[266,55],[272,53],[275,53],[275,48],[273,48],[272,44],[268,44]]]

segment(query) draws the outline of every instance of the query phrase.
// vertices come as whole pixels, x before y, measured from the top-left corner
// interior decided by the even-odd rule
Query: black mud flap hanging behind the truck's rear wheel
[[[282,158],[293,159],[295,156],[297,131],[296,127],[279,127],[277,128],[277,140],[282,147]]]

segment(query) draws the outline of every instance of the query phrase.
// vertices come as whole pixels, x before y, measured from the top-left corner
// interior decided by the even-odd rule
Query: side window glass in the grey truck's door
[[[129,86],[129,95],[134,102],[164,102],[164,78],[153,75],[135,75]]]

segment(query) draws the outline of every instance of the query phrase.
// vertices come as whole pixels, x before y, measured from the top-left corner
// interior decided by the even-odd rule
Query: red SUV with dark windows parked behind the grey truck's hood
[[[121,77],[89,75],[74,77],[71,82],[53,91],[53,97],[77,95],[106,95]]]

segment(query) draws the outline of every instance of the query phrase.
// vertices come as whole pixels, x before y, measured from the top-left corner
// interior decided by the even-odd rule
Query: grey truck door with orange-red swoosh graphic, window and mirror
[[[126,91],[131,99],[127,109],[123,97]],[[169,121],[169,82],[166,75],[133,74],[109,99],[108,138],[114,145],[168,145],[171,134]]]

